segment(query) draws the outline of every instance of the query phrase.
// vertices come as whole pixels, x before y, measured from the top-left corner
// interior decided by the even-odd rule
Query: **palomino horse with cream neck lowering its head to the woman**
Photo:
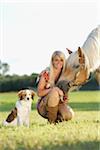
[[[68,50],[69,52],[69,50]],[[100,25],[88,35],[83,46],[70,52],[66,60],[64,73],[59,81],[67,81],[70,87],[80,86],[89,80],[89,76],[100,66]]]

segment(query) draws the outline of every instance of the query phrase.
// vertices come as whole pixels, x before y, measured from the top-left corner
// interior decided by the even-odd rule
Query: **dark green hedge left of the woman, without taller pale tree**
[[[24,88],[35,88],[37,74],[0,76],[0,92],[18,91]]]

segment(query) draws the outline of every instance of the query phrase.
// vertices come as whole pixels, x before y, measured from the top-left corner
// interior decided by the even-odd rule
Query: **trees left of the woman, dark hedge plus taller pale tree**
[[[29,75],[9,75],[7,72],[10,66],[6,62],[0,60],[0,92],[19,91],[21,89],[36,89],[36,79],[38,74]]]

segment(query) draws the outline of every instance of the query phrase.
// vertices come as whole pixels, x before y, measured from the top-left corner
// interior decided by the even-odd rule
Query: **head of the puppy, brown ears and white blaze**
[[[30,99],[34,99],[35,96],[35,92],[33,90],[21,90],[18,92],[18,97],[20,100],[30,100]]]

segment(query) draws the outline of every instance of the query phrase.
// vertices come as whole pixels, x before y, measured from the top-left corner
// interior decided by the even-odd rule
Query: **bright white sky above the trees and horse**
[[[0,60],[11,75],[40,73],[55,50],[81,47],[99,14],[99,0],[1,0]]]

